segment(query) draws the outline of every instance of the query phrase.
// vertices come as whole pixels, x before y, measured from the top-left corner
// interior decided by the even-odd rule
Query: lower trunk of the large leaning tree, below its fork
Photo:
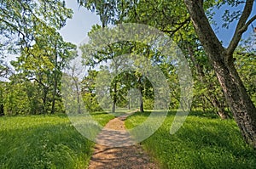
[[[219,64],[215,70],[243,137],[248,144],[256,147],[256,109],[238,76],[235,65]]]

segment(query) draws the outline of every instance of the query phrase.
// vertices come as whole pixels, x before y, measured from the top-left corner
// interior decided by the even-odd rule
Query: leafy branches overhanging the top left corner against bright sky
[[[0,9],[0,51],[5,49],[11,54],[29,51],[35,36],[42,31],[41,25],[61,29],[73,14],[61,0],[3,0]]]

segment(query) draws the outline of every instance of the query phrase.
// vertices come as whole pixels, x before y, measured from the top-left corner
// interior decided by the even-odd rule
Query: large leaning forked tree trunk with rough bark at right
[[[233,58],[241,34],[249,25],[246,22],[252,11],[253,0],[247,0],[228,48],[223,48],[214,31],[212,31],[203,9],[203,0],[184,0],[184,2],[189,10],[195,32],[207,52],[238,127],[240,127],[247,143],[256,148],[256,108],[247,94],[241,78],[238,76]]]

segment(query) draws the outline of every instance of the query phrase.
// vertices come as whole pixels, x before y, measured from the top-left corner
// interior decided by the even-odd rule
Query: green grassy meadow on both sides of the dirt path
[[[140,125],[148,115],[129,116],[125,127]],[[102,126],[114,117],[92,116]],[[190,112],[183,127],[170,135],[174,116],[169,112],[159,130],[141,143],[161,168],[255,168],[256,151],[243,141],[235,121]],[[67,115],[0,117],[0,168],[86,168],[93,146]]]

